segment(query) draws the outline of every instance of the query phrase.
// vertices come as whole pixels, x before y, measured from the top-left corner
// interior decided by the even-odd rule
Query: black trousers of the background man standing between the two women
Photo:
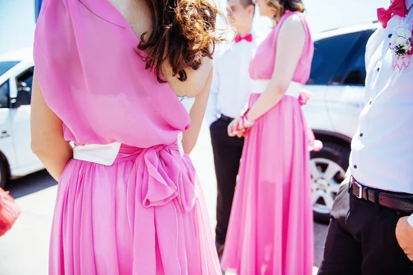
[[[229,122],[218,119],[209,128],[218,187],[215,241],[221,245],[225,243],[242,146],[244,146],[244,137],[229,137],[228,125]]]

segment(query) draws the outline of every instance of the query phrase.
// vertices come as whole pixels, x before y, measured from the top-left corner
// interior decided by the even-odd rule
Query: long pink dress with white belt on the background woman
[[[306,44],[286,96],[262,115],[246,136],[221,263],[223,270],[237,275],[312,274],[308,147],[319,149],[320,144],[301,110],[308,100],[302,85],[310,76],[314,52],[303,14],[286,12],[257,48],[249,68],[256,86],[249,104],[257,101],[271,79],[277,35],[291,14],[301,18]]]

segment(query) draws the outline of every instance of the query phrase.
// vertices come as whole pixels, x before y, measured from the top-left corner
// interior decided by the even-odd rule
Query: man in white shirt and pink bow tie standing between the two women
[[[214,58],[214,75],[207,106],[206,122],[210,125],[215,173],[218,184],[215,241],[222,254],[233,201],[235,181],[244,139],[229,137],[229,122],[240,115],[251,92],[248,65],[257,47],[252,32],[255,5],[252,0],[229,0],[229,19],[237,30],[231,50]]]

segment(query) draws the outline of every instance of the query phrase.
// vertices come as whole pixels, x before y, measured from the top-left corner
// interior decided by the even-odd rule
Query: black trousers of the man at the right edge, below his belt
[[[318,274],[413,274],[395,235],[397,221],[407,215],[358,199],[344,184],[332,207]]]

